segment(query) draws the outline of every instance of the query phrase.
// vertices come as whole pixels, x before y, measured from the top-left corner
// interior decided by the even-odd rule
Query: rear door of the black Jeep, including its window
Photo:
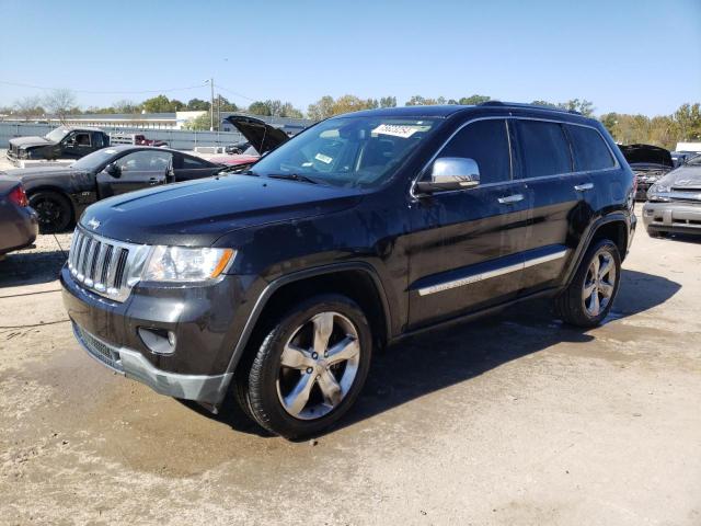
[[[521,295],[555,286],[588,225],[584,194],[591,182],[575,172],[564,125],[514,118],[516,176],[528,198]]]

